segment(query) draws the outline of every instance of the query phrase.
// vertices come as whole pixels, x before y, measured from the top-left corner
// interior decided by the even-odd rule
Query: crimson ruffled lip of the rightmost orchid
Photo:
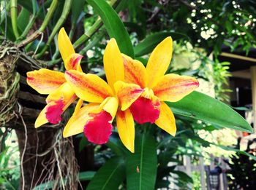
[[[159,100],[153,103],[153,101],[148,98],[140,97],[132,103],[129,109],[138,124],[146,122],[154,123],[159,118],[159,106]]]

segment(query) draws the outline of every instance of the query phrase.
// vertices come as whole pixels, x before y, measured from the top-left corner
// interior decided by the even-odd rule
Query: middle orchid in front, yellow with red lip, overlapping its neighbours
[[[129,106],[143,93],[138,84],[124,81],[124,64],[115,39],[110,39],[103,56],[107,82],[95,74],[65,72],[65,79],[81,99],[64,128],[64,137],[83,132],[96,144],[107,143],[116,116],[119,137],[129,151],[134,152],[135,124]],[[82,106],[83,101],[89,102]],[[119,105],[123,105],[120,109]]]

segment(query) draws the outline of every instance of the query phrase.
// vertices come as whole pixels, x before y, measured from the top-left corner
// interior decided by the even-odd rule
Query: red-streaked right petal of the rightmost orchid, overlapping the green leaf
[[[199,86],[197,79],[191,76],[167,74],[162,76],[153,88],[154,95],[161,101],[176,102],[184,98]]]

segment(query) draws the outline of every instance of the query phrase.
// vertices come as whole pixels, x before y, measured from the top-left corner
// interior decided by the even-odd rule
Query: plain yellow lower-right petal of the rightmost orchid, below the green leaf
[[[165,130],[170,135],[175,136],[176,134],[176,123],[173,116],[173,111],[170,110],[169,106],[164,102],[160,102],[160,115],[159,118],[154,122],[162,130]]]

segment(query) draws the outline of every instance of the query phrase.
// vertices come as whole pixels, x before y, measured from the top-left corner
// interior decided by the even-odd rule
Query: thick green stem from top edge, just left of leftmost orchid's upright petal
[[[69,15],[69,11],[71,8],[71,4],[72,4],[72,0],[66,0],[64,3],[64,8],[63,11],[61,13],[61,17],[59,18],[58,22],[56,23],[56,25],[53,28],[53,31],[50,33],[50,36],[48,38],[48,41],[45,44],[45,47],[42,49],[41,52],[39,52],[39,54],[36,56],[37,59],[42,58],[42,55],[44,55],[44,53],[46,52],[46,50],[48,50],[48,47],[50,46],[50,42],[53,41],[54,36],[56,35],[56,33],[59,31],[59,28],[61,28],[61,25],[63,25],[64,21],[67,18],[67,15]],[[42,28],[42,26],[41,26]],[[40,28],[39,28],[40,30]]]

